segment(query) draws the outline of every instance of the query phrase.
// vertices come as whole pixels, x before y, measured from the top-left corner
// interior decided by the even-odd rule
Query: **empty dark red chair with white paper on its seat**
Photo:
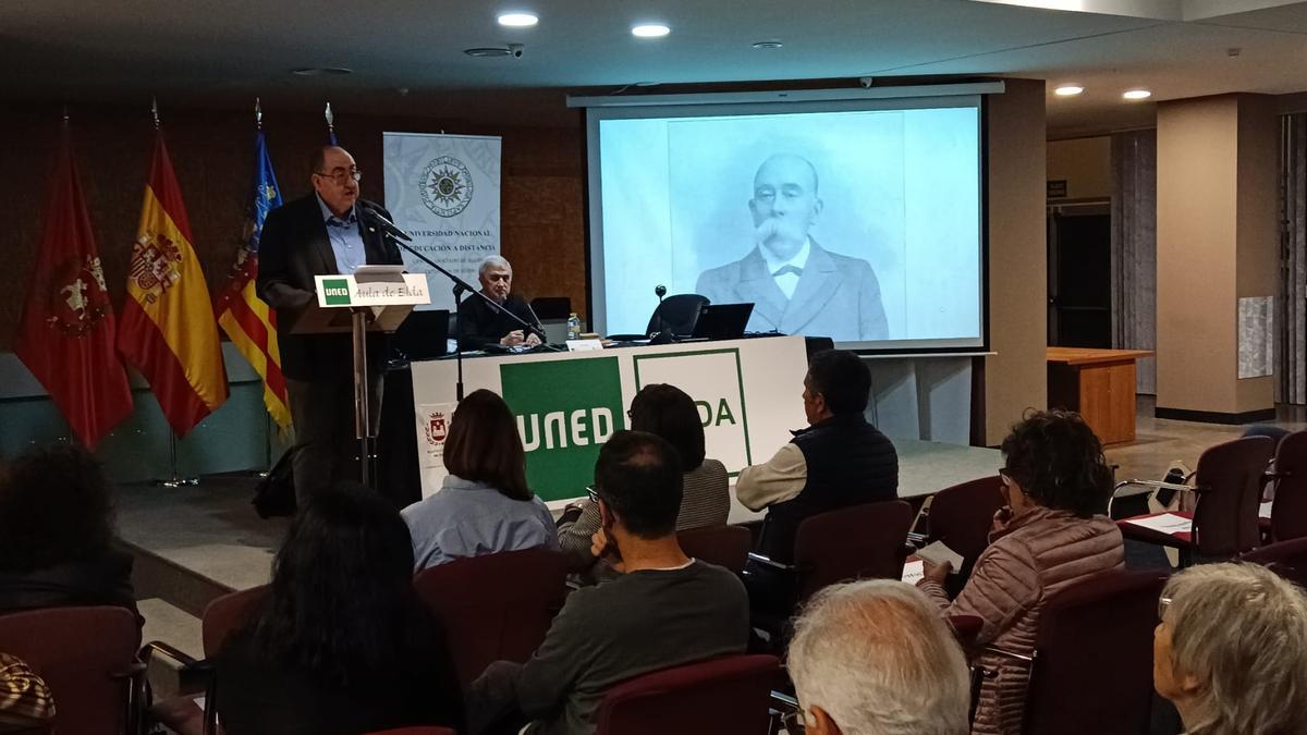
[[[1116,522],[1121,535],[1179,549],[1180,566],[1192,564],[1195,555],[1204,560],[1225,560],[1256,548],[1261,541],[1257,521],[1261,490],[1273,453],[1274,441],[1269,437],[1244,437],[1209,447],[1199,458],[1193,473],[1193,511],[1174,511],[1191,521],[1191,532],[1163,534],[1142,528],[1129,521],[1146,517],[1132,517]],[[1125,480],[1116,489],[1131,484],[1158,485]]]

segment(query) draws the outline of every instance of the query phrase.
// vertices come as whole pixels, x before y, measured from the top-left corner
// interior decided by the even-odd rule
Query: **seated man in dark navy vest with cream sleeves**
[[[813,356],[804,377],[808,429],[780,447],[766,464],[746,467],[736,496],[750,510],[767,509],[758,552],[793,561],[795,534],[810,515],[898,497],[898,454],[864,416],[872,375],[852,352]],[[791,581],[750,562],[749,595],[755,608],[788,613]]]

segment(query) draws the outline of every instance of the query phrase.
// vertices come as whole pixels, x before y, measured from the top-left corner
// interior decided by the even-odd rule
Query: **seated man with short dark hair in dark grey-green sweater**
[[[518,732],[528,722],[525,732],[537,735],[593,732],[612,685],[744,653],[749,604],[740,579],[687,558],[677,544],[676,449],[654,434],[617,432],[599,453],[595,489],[596,556],[612,556],[622,574],[572,592],[531,660],[486,668],[468,700],[472,732]]]

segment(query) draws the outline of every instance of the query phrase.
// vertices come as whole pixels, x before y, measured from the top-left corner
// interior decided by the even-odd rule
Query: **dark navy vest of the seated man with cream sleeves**
[[[795,434],[808,480],[793,500],[767,509],[758,552],[791,564],[795,535],[808,517],[851,505],[898,498],[898,453],[861,413],[833,416]]]

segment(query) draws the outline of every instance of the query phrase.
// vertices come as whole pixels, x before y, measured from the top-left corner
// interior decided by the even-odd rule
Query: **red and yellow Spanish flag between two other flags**
[[[192,242],[163,133],[156,133],[118,350],[149,381],[179,437],[227,399],[218,326]]]

